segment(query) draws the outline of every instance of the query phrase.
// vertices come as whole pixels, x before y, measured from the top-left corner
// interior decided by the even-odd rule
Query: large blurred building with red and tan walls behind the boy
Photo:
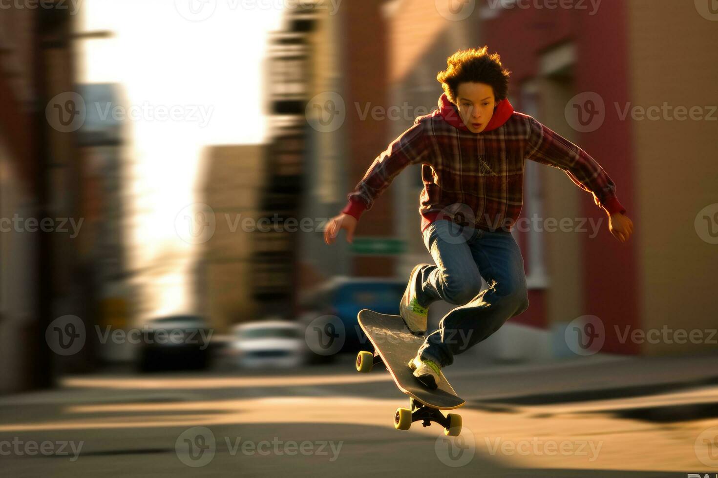
[[[705,49],[718,40],[715,23],[693,4],[668,0],[603,2],[596,11],[526,4],[518,8],[512,1],[476,2],[475,8],[466,2],[457,9],[442,9],[443,4],[388,4],[391,103],[434,109],[442,92],[435,77],[446,67],[447,56],[488,44],[512,71],[509,99],[516,110],[533,115],[596,158],[615,181],[635,224],[630,242],[620,244],[588,193],[562,171],[527,161],[522,217],[602,223],[595,237],[533,228],[516,232],[531,307],[482,350],[505,360],[568,354],[566,325],[584,315],[600,317],[605,326],[602,350],[608,353],[714,349],[706,341],[641,343],[621,335],[626,328],[645,332],[714,327],[705,311],[718,305],[708,292],[715,282],[718,254],[696,234],[694,219],[715,202],[715,123],[631,120],[619,113],[632,105],[660,107],[664,102],[688,108],[716,105],[709,79],[717,77],[718,63]],[[605,120],[596,130],[580,132],[569,124],[568,105],[582,93],[605,102]],[[389,138],[408,128],[411,120],[393,122]],[[685,160],[689,163],[684,158],[690,158]],[[696,171],[703,173],[696,176]],[[399,217],[408,218],[400,228],[410,244],[401,272],[430,260],[418,234],[416,198],[421,187],[418,172],[402,173],[392,186],[401,195]]]

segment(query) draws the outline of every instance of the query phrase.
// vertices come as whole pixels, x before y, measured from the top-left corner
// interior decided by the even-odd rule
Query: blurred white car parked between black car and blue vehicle
[[[241,367],[297,367],[307,358],[304,328],[289,320],[236,325],[231,340],[230,353]]]

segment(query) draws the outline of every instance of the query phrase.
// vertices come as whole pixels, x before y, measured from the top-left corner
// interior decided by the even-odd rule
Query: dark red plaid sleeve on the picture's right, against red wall
[[[535,118],[529,117],[526,159],[563,170],[579,188],[593,194],[594,202],[608,214],[625,213],[616,197],[616,186],[597,161]]]

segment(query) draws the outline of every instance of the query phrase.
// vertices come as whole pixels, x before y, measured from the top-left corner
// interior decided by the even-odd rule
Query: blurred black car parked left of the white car
[[[170,315],[143,328],[139,369],[204,370],[210,364],[210,328],[197,315]]]

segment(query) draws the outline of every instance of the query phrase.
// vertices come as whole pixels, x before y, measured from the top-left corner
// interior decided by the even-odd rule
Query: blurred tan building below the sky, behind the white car
[[[264,237],[255,229],[266,176],[264,145],[222,145],[205,150],[201,202],[215,212],[215,234],[205,242],[198,290],[213,328],[256,320],[254,251]]]

